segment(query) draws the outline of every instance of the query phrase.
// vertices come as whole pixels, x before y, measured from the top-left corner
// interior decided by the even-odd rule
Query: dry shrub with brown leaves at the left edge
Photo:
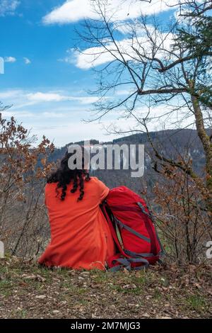
[[[54,145],[46,137],[35,143],[13,117],[0,113],[0,239],[6,251],[21,256],[36,254],[49,238],[43,190]]]

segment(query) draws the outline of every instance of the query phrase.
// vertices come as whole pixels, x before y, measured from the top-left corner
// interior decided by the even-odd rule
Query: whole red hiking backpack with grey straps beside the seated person
[[[101,208],[118,250],[107,262],[112,271],[124,266],[138,270],[159,261],[163,247],[153,216],[138,194],[125,186],[113,188]]]

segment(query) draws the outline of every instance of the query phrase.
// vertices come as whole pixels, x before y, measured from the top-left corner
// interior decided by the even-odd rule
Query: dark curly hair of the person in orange
[[[78,197],[78,201],[81,201],[84,196],[84,181],[90,181],[89,172],[84,169],[84,149],[82,148],[82,169],[69,169],[69,158],[73,156],[73,153],[66,152],[63,159],[61,159],[60,166],[57,171],[54,171],[48,178],[47,184],[50,183],[58,183],[56,192],[57,196],[59,195],[58,189],[61,188],[61,201],[65,200],[67,185],[73,181],[73,188],[71,189],[71,193],[75,193],[79,186],[80,196]],[[73,164],[76,164],[76,159],[73,161]]]

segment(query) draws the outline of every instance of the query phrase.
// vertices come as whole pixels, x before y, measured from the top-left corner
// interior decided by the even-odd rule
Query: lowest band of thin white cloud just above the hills
[[[127,91],[120,91],[120,93],[125,94]],[[81,91],[78,91],[78,94]],[[29,96],[31,101],[29,100]],[[64,104],[63,98],[68,98]],[[70,99],[69,99],[70,98]],[[54,140],[57,146],[65,145],[68,142],[87,140],[87,139],[97,139],[100,141],[108,141],[116,135],[105,136],[107,128],[111,124],[121,130],[139,130],[143,128],[138,128],[138,123],[134,118],[125,119],[120,117],[124,113],[120,111],[114,111],[104,119],[102,123],[81,123],[81,119],[92,118],[92,113],[88,113],[88,108],[90,106],[83,106],[83,103],[88,103],[90,101],[86,96],[70,96],[69,91],[49,91],[49,92],[32,92],[24,91],[20,89],[14,89],[11,91],[1,91],[0,100],[4,104],[13,104],[11,108],[3,111],[3,117],[9,118],[12,115],[18,120],[18,122],[23,123],[25,128],[32,129],[32,135],[38,135],[39,139],[42,139],[42,135],[46,135],[50,140]],[[76,103],[71,103],[70,101],[76,101]],[[8,101],[8,103],[5,103]],[[45,103],[49,101],[49,103]],[[57,103],[55,103],[57,101]],[[25,103],[25,105],[24,105]],[[30,104],[31,103],[31,104]],[[22,105],[21,105],[22,104]],[[27,106],[28,107],[25,107]],[[145,118],[148,113],[148,108],[143,106],[136,110],[136,115],[139,118]],[[149,130],[161,130],[163,125],[166,128],[176,128],[179,125],[179,115],[177,112],[173,113],[171,116],[167,115],[170,108],[167,106],[155,106],[151,109]],[[187,110],[185,110],[186,112]],[[166,115],[165,115],[166,114]],[[119,115],[119,118],[118,118]],[[163,116],[163,121],[158,119],[158,116]],[[95,117],[95,114],[93,114]],[[181,127],[192,123],[191,118],[184,119],[181,123]],[[104,128],[102,128],[104,125]],[[111,127],[112,129],[112,127]],[[119,135],[119,137],[124,135]]]

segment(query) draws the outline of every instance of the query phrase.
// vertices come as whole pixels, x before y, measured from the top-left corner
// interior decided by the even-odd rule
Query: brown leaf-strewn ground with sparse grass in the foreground
[[[211,300],[211,266],[105,273],[0,259],[0,318],[207,318]]]

